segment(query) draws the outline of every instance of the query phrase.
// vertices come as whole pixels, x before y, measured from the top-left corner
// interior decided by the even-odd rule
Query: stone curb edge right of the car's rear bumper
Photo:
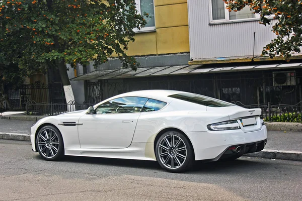
[[[299,151],[283,151],[283,150],[263,149],[260,152],[244,154],[244,156],[279,159],[279,160],[302,161],[302,152],[299,152]]]

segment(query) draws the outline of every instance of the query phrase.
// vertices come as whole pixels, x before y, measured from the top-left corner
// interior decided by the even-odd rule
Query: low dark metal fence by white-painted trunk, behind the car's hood
[[[29,101],[26,104],[27,115],[40,115],[40,116],[54,116],[67,112],[73,112],[78,110],[86,110],[93,104],[78,104],[71,100],[67,104],[64,103],[36,103]]]

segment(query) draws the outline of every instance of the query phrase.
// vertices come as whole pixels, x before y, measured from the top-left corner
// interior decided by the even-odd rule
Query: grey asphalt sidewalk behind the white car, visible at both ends
[[[34,122],[0,119],[0,132],[30,134]],[[289,150],[302,152],[301,132],[268,131],[265,149]]]

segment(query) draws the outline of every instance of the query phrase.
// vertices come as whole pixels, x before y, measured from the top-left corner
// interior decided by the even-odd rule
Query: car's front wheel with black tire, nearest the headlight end
[[[48,138],[45,131],[48,134]],[[46,141],[43,138],[47,138]],[[36,147],[44,160],[56,161],[64,156],[63,138],[60,131],[54,126],[44,126],[39,130],[36,137]]]

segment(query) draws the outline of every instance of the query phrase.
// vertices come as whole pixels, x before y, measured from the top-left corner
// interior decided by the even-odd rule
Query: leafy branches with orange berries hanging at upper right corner
[[[267,25],[271,18],[276,20],[272,27],[276,37],[267,44],[262,55],[271,58],[282,55],[285,59],[293,53],[300,53],[302,46],[302,0],[223,0],[230,12],[240,11],[249,6],[260,14],[260,24]]]

